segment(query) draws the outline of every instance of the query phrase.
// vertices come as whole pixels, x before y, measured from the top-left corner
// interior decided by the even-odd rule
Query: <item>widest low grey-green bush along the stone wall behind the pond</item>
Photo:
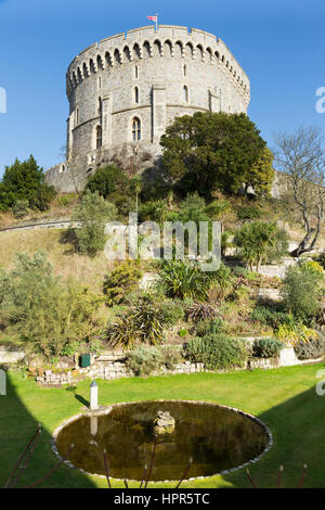
[[[192,362],[204,364],[208,370],[227,370],[243,367],[248,352],[245,343],[224,334],[208,334],[190,340],[185,354]]]

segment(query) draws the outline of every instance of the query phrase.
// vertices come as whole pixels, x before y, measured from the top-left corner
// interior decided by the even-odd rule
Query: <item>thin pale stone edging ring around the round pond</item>
[[[266,447],[263,449],[263,451],[258,455],[257,457],[255,457],[253,459],[251,460],[248,460],[247,462],[245,462],[244,464],[240,464],[240,466],[237,466],[235,468],[231,468],[231,469],[227,469],[227,470],[223,470],[223,471],[220,471],[219,473],[213,473],[213,474],[210,474],[209,476],[195,476],[195,477],[190,477],[190,479],[185,479],[184,482],[194,482],[195,480],[206,480],[206,479],[210,479],[212,476],[220,476],[220,475],[224,475],[224,474],[229,474],[229,473],[233,473],[234,471],[238,471],[239,469],[242,468],[245,468],[246,466],[249,466],[249,464],[253,464],[256,463],[258,460],[260,460],[261,457],[263,457],[265,454],[268,454],[268,451],[270,451],[270,449],[272,448],[273,446],[273,434],[271,432],[271,429],[264,423],[262,422],[259,418],[255,417],[253,415],[250,415],[249,412],[246,412],[246,411],[243,411],[240,409],[237,409],[235,407],[231,407],[231,406],[224,406],[222,404],[217,404],[217,403],[213,403],[213,401],[209,401],[209,400],[183,400],[183,399],[177,399],[177,398],[172,398],[172,399],[165,399],[165,398],[160,398],[158,400],[134,400],[134,401],[121,401],[121,403],[117,403],[117,404],[112,404],[110,406],[106,406],[104,407],[103,409],[98,409],[96,411],[91,411],[91,410],[88,410],[88,411],[84,411],[84,412],[79,412],[78,415],[75,415],[73,416],[72,418],[68,418],[67,420],[63,421],[61,423],[61,425],[58,425],[53,434],[52,434],[52,439],[51,439],[51,444],[52,444],[52,450],[54,451],[55,456],[60,459],[60,461],[63,461],[63,463],[65,466],[67,466],[68,468],[70,469],[74,469],[74,470],[77,470],[79,472],[81,472],[82,474],[87,474],[88,476],[98,476],[100,479],[106,479],[105,475],[103,474],[98,474],[98,473],[89,473],[88,471],[84,471],[83,469],[81,468],[77,468],[76,466],[74,466],[69,460],[64,460],[63,457],[61,456],[61,454],[58,452],[57,450],[57,447],[56,447],[56,439],[57,439],[57,435],[60,434],[60,432],[67,425],[69,425],[70,423],[73,423],[74,421],[77,421],[79,418],[81,417],[91,417],[91,416],[105,416],[105,415],[109,415],[109,412],[113,410],[114,407],[121,407],[121,406],[127,406],[127,405],[130,405],[130,404],[143,404],[145,401],[161,401],[161,403],[166,403],[166,401],[180,401],[180,403],[186,403],[186,404],[198,404],[198,405],[202,405],[202,406],[216,406],[216,407],[219,407],[219,408],[222,408],[222,409],[226,409],[229,411],[232,411],[232,412],[235,412],[237,415],[240,415],[245,418],[248,418],[249,420],[253,421],[255,423],[259,424],[264,431],[265,431],[265,434],[268,436],[268,445]],[[112,477],[113,480],[115,480],[116,482],[123,482],[125,479],[114,479]],[[131,483],[139,483],[139,480],[127,480],[128,482],[131,482]],[[158,481],[152,481],[152,482],[155,482],[155,483],[178,483],[179,480],[158,480]]]

